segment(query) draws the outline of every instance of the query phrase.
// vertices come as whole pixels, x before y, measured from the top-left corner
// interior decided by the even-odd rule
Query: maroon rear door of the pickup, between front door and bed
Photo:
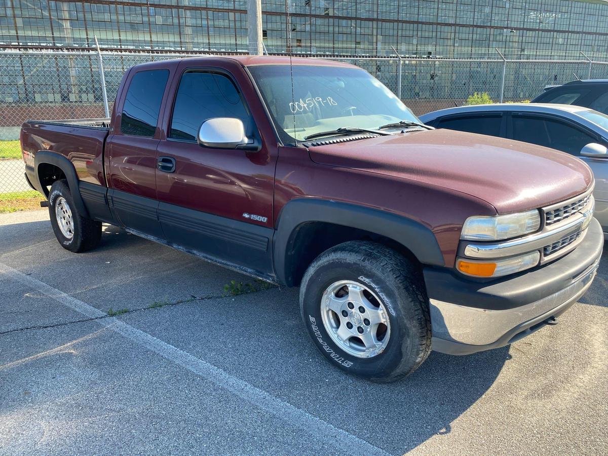
[[[116,109],[114,131],[106,143],[108,199],[125,226],[164,239],[156,199],[156,147],[171,65],[159,62],[131,70]]]

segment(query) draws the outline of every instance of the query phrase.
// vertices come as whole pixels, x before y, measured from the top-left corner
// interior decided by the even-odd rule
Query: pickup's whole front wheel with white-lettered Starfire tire
[[[382,244],[350,241],[319,255],[302,279],[300,309],[320,352],[354,375],[396,381],[429,356],[424,283]]]

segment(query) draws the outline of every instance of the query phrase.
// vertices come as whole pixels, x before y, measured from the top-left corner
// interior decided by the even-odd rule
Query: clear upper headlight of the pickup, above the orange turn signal
[[[541,226],[538,210],[466,219],[460,238],[467,241],[498,241],[533,233]]]

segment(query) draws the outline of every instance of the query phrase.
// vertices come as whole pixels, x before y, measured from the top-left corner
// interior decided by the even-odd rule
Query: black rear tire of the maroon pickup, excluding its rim
[[[57,201],[60,198],[64,198],[69,206],[72,213],[71,226],[73,235],[71,238],[66,237],[62,232],[57,221],[57,213],[55,212]],[[92,220],[90,218],[83,217],[78,213],[78,209],[74,204],[74,198],[72,198],[72,192],[67,185],[67,181],[62,179],[61,181],[53,182],[49,192],[49,215],[50,224],[55,232],[55,237],[64,249],[70,250],[71,252],[85,252],[97,247],[99,241],[102,238],[102,223]]]

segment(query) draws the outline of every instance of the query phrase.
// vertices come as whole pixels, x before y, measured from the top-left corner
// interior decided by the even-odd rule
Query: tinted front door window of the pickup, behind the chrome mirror
[[[249,112],[229,78],[215,73],[185,73],[179,81],[169,136],[196,139],[201,124],[213,117],[241,119],[249,132]]]

